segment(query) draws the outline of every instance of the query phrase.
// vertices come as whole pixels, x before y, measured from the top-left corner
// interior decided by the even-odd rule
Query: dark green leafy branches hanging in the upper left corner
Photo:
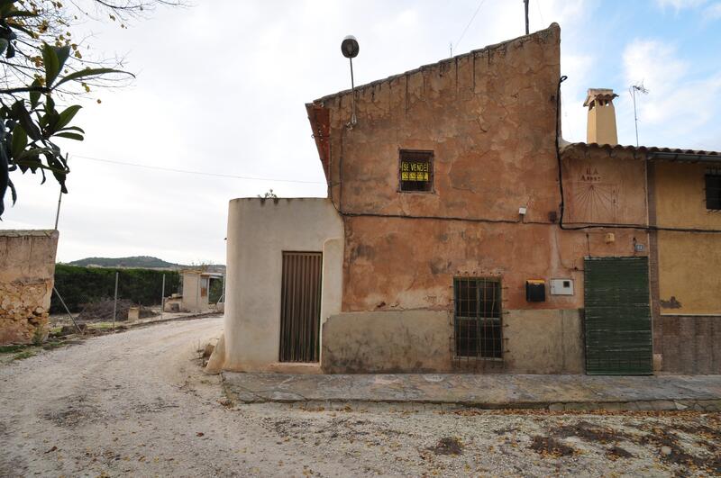
[[[156,5],[180,5],[170,0],[0,0],[0,218],[5,195],[12,202],[17,191],[11,173],[50,174],[63,193],[70,172],[68,156],[57,140],[83,140],[85,131],[73,124],[81,106],[64,108],[56,98],[68,99],[91,87],[113,86],[132,77],[122,62],[87,58],[86,39],[73,31],[82,22],[103,20],[126,28],[132,17]],[[107,15],[105,17],[105,15]],[[99,100],[98,100],[99,101]]]

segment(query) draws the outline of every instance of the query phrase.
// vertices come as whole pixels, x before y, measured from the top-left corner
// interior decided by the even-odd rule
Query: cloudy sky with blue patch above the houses
[[[721,150],[721,0],[531,0],[531,31],[552,22],[569,77],[565,140],[586,139],[586,89],[607,87],[619,95],[618,140],[635,144],[629,87],[643,82],[641,144]],[[461,54],[516,38],[525,25],[521,0],[195,0],[128,29],[81,28],[95,50],[126,58],[136,78],[91,92],[76,117],[86,140],[61,143],[72,171],[58,260],[224,264],[231,199],[269,189],[325,196],[305,104],[350,87],[345,35],[360,43],[353,66],[362,85],[448,58],[451,45]],[[12,178],[19,199],[6,203],[0,229],[52,229],[58,186]]]

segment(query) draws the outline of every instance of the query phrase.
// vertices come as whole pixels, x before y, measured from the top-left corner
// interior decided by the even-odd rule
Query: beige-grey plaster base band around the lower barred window
[[[345,312],[323,327],[326,374],[447,373],[470,369],[513,374],[582,374],[579,311],[508,311],[504,360],[466,363],[453,356],[448,311]],[[487,366],[488,365],[488,366]],[[495,366],[494,366],[495,365]]]

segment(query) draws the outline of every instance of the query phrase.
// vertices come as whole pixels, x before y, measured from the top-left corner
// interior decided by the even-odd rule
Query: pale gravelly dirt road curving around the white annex
[[[229,405],[196,360],[221,327],[170,322],[0,367],[0,476],[721,473],[717,413]]]

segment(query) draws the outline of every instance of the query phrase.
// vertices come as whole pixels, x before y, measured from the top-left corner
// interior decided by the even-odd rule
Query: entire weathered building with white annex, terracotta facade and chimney
[[[721,371],[721,304],[711,297],[719,269],[703,265],[714,292],[687,286],[673,262],[689,241],[717,250],[721,235],[659,230],[721,229],[721,214],[688,200],[701,209],[676,216],[685,190],[666,168],[687,167],[688,187],[698,186],[695,166],[675,162],[690,153],[616,146],[610,90],[589,90],[586,102],[589,139],[610,145],[560,140],[560,35],[554,23],[360,86],[355,123],[350,91],[307,104],[328,197],[230,203],[214,363],[310,373]],[[696,153],[721,164],[718,153]],[[688,309],[664,309],[671,294]],[[707,350],[667,356],[689,347],[671,345],[672,334],[707,340],[704,330],[716,337]]]

